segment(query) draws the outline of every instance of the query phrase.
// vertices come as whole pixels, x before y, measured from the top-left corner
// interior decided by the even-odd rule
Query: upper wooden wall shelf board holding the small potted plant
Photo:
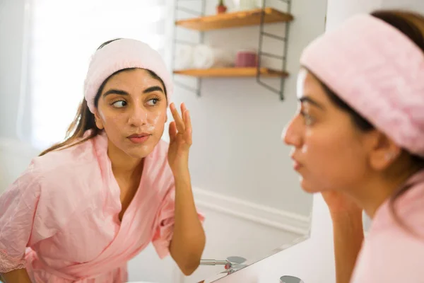
[[[267,7],[179,20],[175,22],[175,25],[200,31],[260,25],[262,13],[264,13],[263,23],[287,23],[293,21],[293,16],[290,13],[283,13],[275,8]]]

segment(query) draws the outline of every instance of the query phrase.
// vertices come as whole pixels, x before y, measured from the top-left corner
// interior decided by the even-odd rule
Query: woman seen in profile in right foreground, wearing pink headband
[[[329,206],[337,282],[423,282],[424,17],[354,16],[300,61],[284,141],[302,188]]]

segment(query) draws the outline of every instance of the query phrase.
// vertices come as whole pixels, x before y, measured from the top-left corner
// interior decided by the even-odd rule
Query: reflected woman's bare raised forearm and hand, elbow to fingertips
[[[205,233],[194,206],[192,182],[189,174],[189,149],[192,146],[192,122],[184,103],[182,117],[175,104],[170,110],[174,117],[170,123],[168,163],[175,179],[175,224],[170,253],[184,275],[192,275],[199,267],[205,248]]]

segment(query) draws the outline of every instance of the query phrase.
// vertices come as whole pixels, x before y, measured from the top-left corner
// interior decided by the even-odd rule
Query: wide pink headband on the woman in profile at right
[[[396,144],[424,156],[424,53],[406,35],[354,16],[306,47],[300,64]]]

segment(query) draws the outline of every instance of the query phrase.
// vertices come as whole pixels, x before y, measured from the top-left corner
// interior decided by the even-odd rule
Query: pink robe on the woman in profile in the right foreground
[[[408,183],[415,184],[395,202],[396,212],[410,229],[406,231],[382,204],[372,221],[360,252],[352,283],[424,282],[424,171]]]

